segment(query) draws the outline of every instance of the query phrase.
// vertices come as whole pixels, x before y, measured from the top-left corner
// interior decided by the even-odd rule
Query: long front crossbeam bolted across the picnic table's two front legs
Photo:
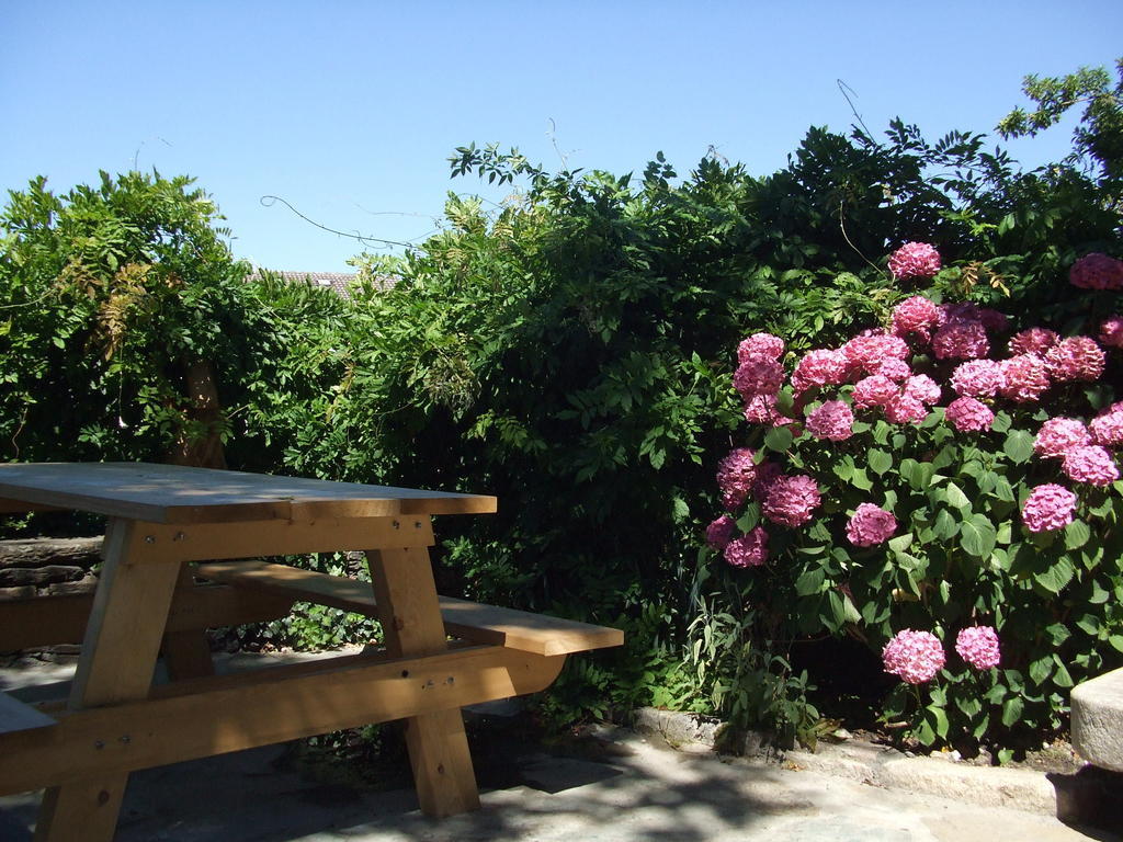
[[[549,686],[565,657],[476,647],[340,660],[346,666],[314,671],[313,665],[258,670],[236,686],[223,685],[228,676],[167,685],[158,688],[162,697],[73,711],[52,729],[2,734],[0,795],[535,693]]]

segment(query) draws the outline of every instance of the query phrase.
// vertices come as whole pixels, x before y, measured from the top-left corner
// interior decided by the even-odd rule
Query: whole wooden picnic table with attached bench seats
[[[495,507],[473,494],[170,465],[0,465],[0,512],[108,518],[92,596],[0,602],[0,651],[82,643],[69,699],[0,693],[0,795],[46,788],[35,839],[99,842],[113,836],[133,770],[404,720],[421,809],[478,807],[460,707],[544,689],[567,655],[623,641],[438,596],[431,515]],[[339,550],[364,550],[372,582],[263,560]],[[382,647],[213,674],[207,628],[284,616],[295,600],[376,616]],[[154,686],[161,655],[172,680]]]

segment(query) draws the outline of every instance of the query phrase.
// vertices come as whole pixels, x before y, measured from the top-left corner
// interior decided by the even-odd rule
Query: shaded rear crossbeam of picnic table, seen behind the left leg
[[[264,623],[286,616],[295,594],[230,585],[200,585],[173,597],[168,632]],[[93,594],[0,601],[0,651],[81,643]]]

